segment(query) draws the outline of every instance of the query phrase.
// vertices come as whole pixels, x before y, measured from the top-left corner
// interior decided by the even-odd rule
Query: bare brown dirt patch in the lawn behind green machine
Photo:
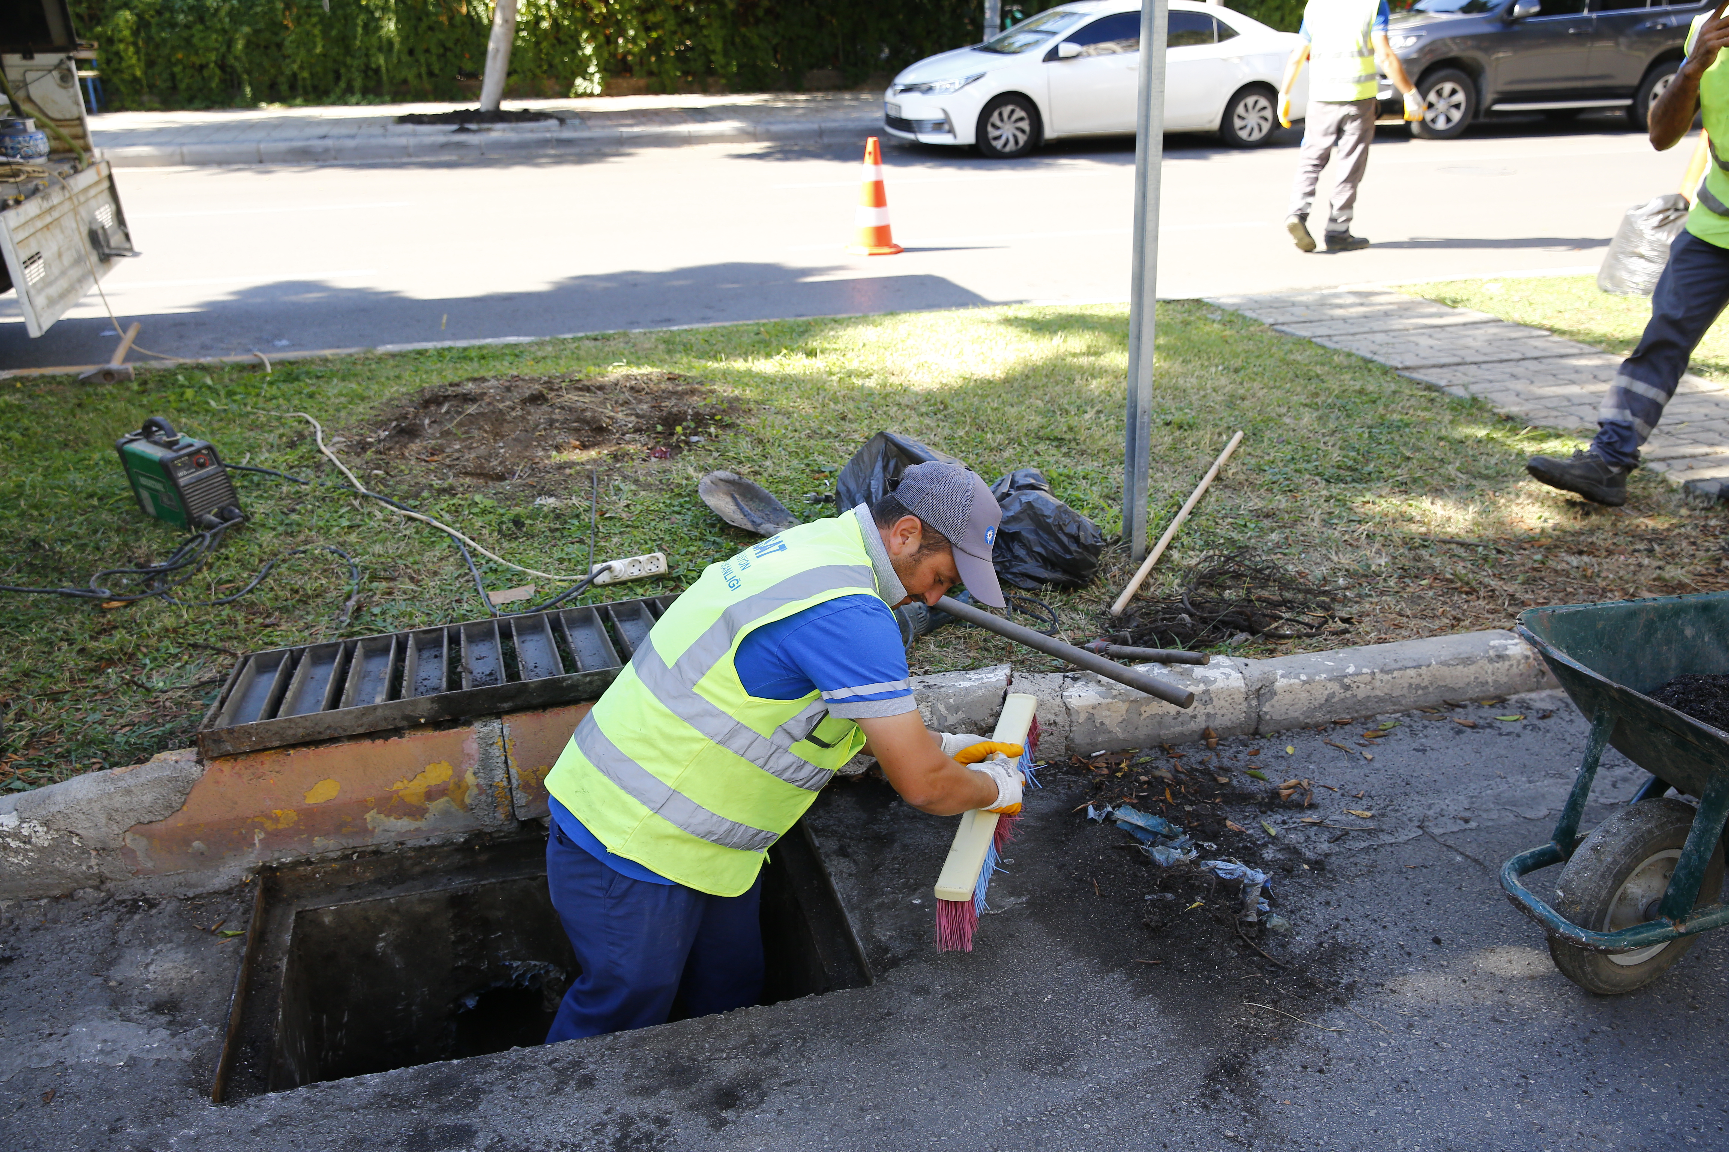
[[[731,399],[667,371],[479,377],[425,387],[344,432],[344,442],[372,466],[533,485],[595,454],[669,459],[735,416]]]

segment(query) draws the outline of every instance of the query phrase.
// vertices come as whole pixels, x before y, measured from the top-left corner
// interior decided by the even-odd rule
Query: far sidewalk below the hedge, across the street
[[[558,119],[526,124],[398,124],[406,112],[472,104],[382,104],[216,112],[104,112],[90,117],[116,168],[173,164],[330,164],[619,152],[692,143],[858,142],[882,128],[880,92],[726,97],[507,100]]]

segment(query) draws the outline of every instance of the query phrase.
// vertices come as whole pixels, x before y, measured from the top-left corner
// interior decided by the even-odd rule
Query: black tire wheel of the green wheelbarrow
[[[1613,933],[1656,919],[1681,846],[1693,827],[1693,805],[1641,800],[1618,808],[1573,851],[1554,886],[1554,910],[1580,927]],[[1712,851],[1698,903],[1715,903],[1724,883],[1722,843]],[[1679,960],[1698,936],[1682,936],[1637,952],[1591,952],[1549,938],[1554,967],[1570,981],[1605,997],[1643,988]]]

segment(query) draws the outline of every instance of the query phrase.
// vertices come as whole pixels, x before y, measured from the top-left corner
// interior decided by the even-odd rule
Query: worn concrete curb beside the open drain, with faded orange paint
[[[1215,658],[1205,667],[1169,667],[1158,675],[1184,684],[1195,693],[1195,706],[1176,708],[1143,696],[1091,672],[1015,674],[1010,665],[972,672],[916,677],[925,724],[949,732],[989,732],[1003,701],[1003,693],[1022,691],[1037,696],[1039,756],[1063,758],[1072,753],[1145,748],[1193,741],[1205,729],[1219,736],[1260,736],[1317,722],[1404,712],[1449,699],[1513,696],[1556,687],[1542,660],[1513,632],[1464,632],[1395,644],[1340,648],[1274,660]],[[545,713],[479,718],[463,739],[456,732],[439,736],[370,737],[356,746],[316,746],[304,753],[252,753],[258,765],[244,758],[225,758],[206,765],[190,748],[161,753],[149,763],[130,769],[90,772],[61,784],[29,793],[0,796],[0,898],[35,900],[64,896],[81,888],[107,886],[121,893],[192,895],[232,884],[239,876],[270,860],[379,848],[398,843],[451,839],[488,829],[508,829],[519,822],[545,817],[545,791],[539,779],[569,737],[572,708]],[[474,746],[469,777],[462,760],[437,753],[456,736]],[[489,803],[463,800],[462,812],[439,801],[446,819],[391,820],[368,812],[365,819],[341,826],[327,820],[316,834],[278,836],[252,831],[251,824],[280,832],[313,824],[311,808],[296,815],[292,800],[306,781],[327,772],[344,775],[361,786],[368,774],[377,777],[375,791],[360,793],[358,808],[375,803],[370,796],[387,796],[403,784],[389,784],[396,769],[373,763],[389,744],[427,743],[425,755],[444,755],[443,775],[472,779],[474,796],[491,796]],[[372,751],[367,751],[367,750]],[[292,777],[289,758],[311,760],[306,779]],[[401,751],[399,758],[410,756]],[[346,774],[341,760],[354,760]],[[266,765],[265,760],[270,760]],[[360,763],[365,762],[365,763]],[[403,758],[410,769],[410,758]],[[268,770],[266,770],[268,769]],[[263,775],[261,775],[263,774]],[[508,775],[508,781],[505,779]],[[206,779],[209,777],[209,779]],[[282,793],[289,800],[259,800],[259,812],[246,808],[246,777],[270,777],[259,796]],[[323,781],[329,796],[335,781]],[[263,791],[273,786],[277,793]],[[344,784],[348,788],[349,784]],[[422,788],[422,793],[425,789]],[[465,791],[463,796],[469,793]],[[202,798],[202,800],[201,800]],[[315,793],[306,801],[325,803]],[[424,800],[424,796],[422,796]],[[218,827],[209,819],[209,805],[226,805]],[[201,808],[201,805],[204,805]],[[239,807],[237,807],[239,805]],[[287,805],[287,808],[280,807]],[[244,810],[242,810],[244,808]],[[270,808],[268,812],[263,808]],[[329,812],[329,810],[325,810]],[[190,843],[204,853],[204,841],[188,841],[197,832],[209,845],[220,845],[216,832],[246,826],[246,836],[230,848],[207,855],[180,855],[163,865],[164,848]],[[164,834],[169,829],[173,834]],[[313,829],[308,829],[311,832]],[[157,858],[152,858],[152,851]]]

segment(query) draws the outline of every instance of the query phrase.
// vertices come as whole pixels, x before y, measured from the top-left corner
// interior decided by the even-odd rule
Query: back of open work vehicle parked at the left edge
[[[66,0],[0,3],[0,105],[48,138],[45,157],[0,157],[0,292],[17,292],[31,337],[138,254],[78,86],[80,60],[93,59]]]

